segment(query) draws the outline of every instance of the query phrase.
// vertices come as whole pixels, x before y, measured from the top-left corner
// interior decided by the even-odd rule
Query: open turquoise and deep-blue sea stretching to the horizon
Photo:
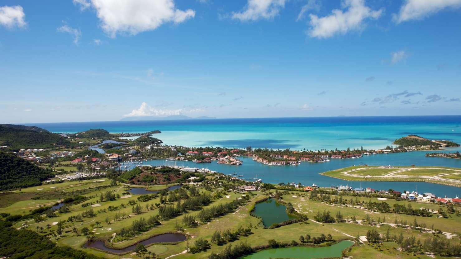
[[[383,148],[404,135],[461,142],[461,116],[235,118],[31,124],[52,132],[160,130],[168,145],[274,149]]]

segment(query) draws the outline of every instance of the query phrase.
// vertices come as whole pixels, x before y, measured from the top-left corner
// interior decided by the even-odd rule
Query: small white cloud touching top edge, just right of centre
[[[248,0],[241,12],[232,12],[232,19],[242,22],[272,19],[284,8],[285,0]]]

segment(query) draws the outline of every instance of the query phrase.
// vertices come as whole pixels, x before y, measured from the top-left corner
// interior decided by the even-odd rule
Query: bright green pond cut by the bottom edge
[[[352,246],[353,241],[343,240],[329,247],[284,247],[266,249],[252,253],[240,259],[268,259],[268,258],[292,258],[292,259],[313,259],[340,257],[344,249]]]

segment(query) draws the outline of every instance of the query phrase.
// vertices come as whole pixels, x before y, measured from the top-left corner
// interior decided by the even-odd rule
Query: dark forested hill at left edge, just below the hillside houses
[[[53,176],[53,172],[5,151],[0,151],[0,168],[0,190],[40,185]]]

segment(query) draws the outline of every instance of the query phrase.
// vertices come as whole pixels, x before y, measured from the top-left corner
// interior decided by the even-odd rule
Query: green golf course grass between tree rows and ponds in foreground
[[[12,193],[12,194],[6,194],[3,196],[0,196],[0,203],[2,200],[8,198],[9,195],[11,197],[16,197],[14,195],[23,195],[26,198],[32,197],[35,194],[43,194],[43,192],[62,192],[63,190],[65,192],[71,191],[71,190],[77,190],[81,188],[89,188],[89,187],[95,187],[95,186],[100,186],[100,185],[108,185],[110,181],[106,180],[104,182],[94,182],[95,180],[86,180],[82,182],[63,182],[63,183],[58,183],[58,184],[51,184],[51,185],[44,185],[44,186],[36,186],[36,187],[31,187],[31,188],[25,188],[22,190],[21,194],[17,193]],[[56,187],[53,190],[49,187]],[[156,186],[154,189],[163,189],[166,186]],[[39,188],[44,188],[43,190],[38,190]],[[70,206],[70,212],[68,213],[59,213],[56,212],[56,217],[53,218],[46,218],[45,220],[39,223],[35,223],[33,219],[28,220],[29,226],[28,228],[30,230],[37,231],[37,226],[45,228],[45,233],[50,234],[48,230],[46,230],[47,224],[51,225],[51,230],[56,230],[56,225],[53,225],[55,222],[59,222],[61,220],[66,221],[70,216],[77,215],[79,213],[84,212],[85,210],[92,208],[96,212],[96,216],[94,217],[89,217],[89,218],[83,218],[83,224],[80,224],[80,222],[66,222],[63,226],[65,231],[68,231],[67,233],[64,233],[62,237],[58,237],[55,239],[52,235],[50,235],[52,241],[57,241],[58,245],[62,246],[70,246],[76,249],[83,249],[88,253],[93,253],[95,255],[108,258],[108,259],[118,259],[118,258],[132,258],[132,259],[139,259],[140,257],[133,255],[133,254],[125,254],[125,255],[113,255],[109,253],[105,253],[99,250],[95,249],[89,249],[89,248],[82,248],[82,245],[87,241],[87,238],[83,235],[75,235],[73,236],[72,232],[69,232],[73,227],[77,228],[77,230],[81,230],[83,227],[88,227],[91,229],[91,231],[94,231],[96,237],[102,237],[104,239],[109,239],[113,233],[118,232],[121,228],[129,226],[134,220],[137,220],[139,218],[148,218],[151,215],[156,215],[158,213],[158,208],[155,208],[154,210],[149,210],[149,209],[144,209],[144,211],[140,215],[135,215],[131,211],[131,206],[126,206],[125,208],[121,208],[122,204],[127,204],[129,200],[134,200],[136,201],[137,204],[141,205],[143,208],[146,207],[148,204],[154,204],[159,202],[159,198],[150,200],[147,202],[141,202],[137,200],[136,198],[139,195],[132,195],[129,198],[126,199],[116,199],[114,201],[104,201],[100,202],[99,201],[99,194],[106,192],[106,191],[112,191],[115,194],[119,194],[122,196],[122,192],[124,192],[124,186],[123,185],[118,185],[118,186],[112,186],[112,187],[107,187],[101,190],[95,190],[93,192],[89,192],[85,194],[85,196],[88,196],[89,199],[86,200],[84,203],[89,202],[93,205],[95,204],[100,204],[100,206],[92,207],[92,206],[87,206],[87,207],[82,207],[81,204],[77,205],[72,205]],[[213,189],[211,191],[207,191],[205,189],[200,189],[201,192],[204,193],[210,193],[214,194],[218,191],[219,189]],[[294,197],[296,196],[296,197]],[[234,193],[234,192],[227,192],[224,194],[224,196],[220,199],[215,200],[211,205],[217,205],[225,202],[229,202],[233,199],[240,198],[242,197],[241,193]],[[292,240],[298,241],[298,237],[300,235],[306,235],[309,234],[311,236],[318,236],[320,234],[331,234],[334,239],[343,239],[343,238],[350,238],[350,236],[357,236],[357,235],[366,235],[366,231],[375,229],[377,230],[380,234],[384,235],[386,230],[390,227],[389,225],[381,225],[379,228],[377,228],[374,225],[369,225],[369,224],[349,224],[349,223],[340,223],[340,224],[318,224],[313,221],[308,221],[307,223],[295,223],[295,224],[290,224],[286,225],[277,229],[263,229],[262,227],[258,226],[260,220],[258,218],[254,218],[249,215],[248,211],[254,206],[254,202],[256,200],[260,200],[261,198],[266,197],[266,194],[261,193],[260,191],[254,192],[254,197],[252,197],[247,204],[243,205],[239,209],[237,209],[235,212],[229,213],[223,217],[216,218],[213,221],[209,223],[201,223],[199,226],[190,228],[190,227],[184,227],[183,232],[186,233],[189,236],[188,241],[183,241],[180,242],[176,245],[169,245],[169,244],[154,244],[152,246],[148,247],[148,250],[151,252],[154,252],[158,255],[160,255],[160,258],[165,258],[167,256],[171,256],[173,254],[178,254],[183,252],[187,245],[192,246],[195,242],[195,240],[199,237],[205,238],[207,240],[211,239],[211,236],[213,235],[213,232],[215,230],[221,230],[224,231],[226,229],[233,229],[235,230],[239,226],[244,226],[244,227],[249,227],[251,226],[252,233],[249,236],[241,236],[239,238],[239,241],[234,241],[233,244],[240,242],[240,241],[247,241],[248,243],[251,244],[251,246],[258,246],[258,245],[266,245],[268,240],[270,239],[275,239],[277,241],[282,241],[282,242],[290,242]],[[337,196],[339,197],[339,196]],[[332,215],[335,215],[336,212],[341,212],[344,216],[344,218],[352,218],[355,217],[357,220],[362,220],[366,218],[367,214],[372,215],[372,218],[377,220],[380,218],[381,220],[385,218],[385,222],[387,223],[393,223],[395,221],[395,218],[398,220],[403,219],[407,220],[408,222],[413,222],[414,218],[417,218],[418,222],[426,223],[427,226],[431,226],[432,224],[434,225],[434,228],[450,232],[450,233],[455,233],[455,232],[461,232],[461,221],[460,217],[455,216],[455,214],[449,214],[449,218],[437,218],[436,215],[432,217],[415,217],[415,216],[410,216],[410,215],[403,215],[403,214],[394,214],[394,213],[375,213],[375,212],[369,212],[365,209],[361,208],[354,208],[354,207],[348,207],[348,206],[337,206],[337,205],[332,205],[332,204],[326,204],[320,201],[316,200],[309,200],[308,199],[308,193],[304,192],[297,192],[293,191],[290,192],[289,194],[284,194],[283,195],[283,200],[285,202],[290,202],[293,204],[293,206],[301,212],[302,214],[306,214],[310,219],[313,219],[315,213],[318,211],[324,211],[328,210],[331,212]],[[343,196],[343,199],[349,200],[350,198],[353,198],[355,200],[355,197],[347,197]],[[12,214],[22,214],[23,212],[27,213],[31,208],[36,208],[36,206],[40,205],[47,205],[47,204],[53,204],[57,200],[30,200],[29,199],[24,199],[24,200],[17,200],[13,201],[15,198],[8,198],[7,200],[10,201],[9,206],[4,206],[1,208],[2,212],[9,212]],[[358,197],[359,200],[368,202],[368,201],[379,201],[376,198],[371,198],[371,197]],[[387,203],[392,207],[394,204],[402,204],[405,206],[408,206],[409,202],[408,201],[396,201],[396,200],[386,200]],[[107,210],[109,206],[117,206],[118,209],[114,211],[109,211]],[[432,210],[439,210],[440,207],[436,204],[429,204],[429,203],[416,203],[412,202],[411,206],[413,208],[420,208],[420,207],[427,207],[431,208]],[[102,212],[101,210],[106,209],[106,212]],[[116,220],[114,221],[114,215],[115,213],[121,214],[125,213],[126,215],[132,215],[131,217],[127,217],[122,220]],[[189,215],[197,215],[199,211],[190,211],[188,214]],[[151,235],[155,234],[160,234],[160,233],[165,233],[165,232],[171,232],[171,231],[176,231],[175,230],[175,224],[176,222],[179,224],[182,224],[182,218],[184,217],[183,214],[177,218],[171,219],[171,220],[166,220],[166,221],[161,221],[161,225],[158,227],[155,227],[151,230],[146,231],[145,233],[142,233],[141,235],[137,235],[134,238],[130,240],[125,240],[119,244],[114,244],[115,247],[126,247],[132,244],[135,244],[136,242],[146,239]],[[106,218],[108,219],[109,223],[106,223]],[[95,225],[95,222],[100,222],[101,225],[100,227],[97,227]],[[24,222],[19,222],[14,225],[14,227],[19,228],[23,225]],[[426,239],[427,237],[431,236],[432,234],[430,233],[422,233],[417,230],[409,230],[409,229],[402,229],[402,228],[395,228],[395,227],[390,227],[390,233],[391,235],[399,235],[401,232],[405,236],[410,236],[414,235],[417,238],[420,238],[422,240]],[[460,239],[458,236],[454,236],[453,241],[459,242]],[[404,252],[400,252],[398,250],[392,249],[392,247],[398,247],[395,243],[392,242],[384,242],[383,244],[384,248],[382,249],[383,251],[378,251],[377,249],[370,247],[368,245],[361,245],[361,246],[355,246],[352,248],[352,250],[349,252],[349,255],[353,256],[354,258],[383,258],[383,259],[388,259],[388,258],[415,258],[413,255],[406,254]],[[193,259],[193,258],[207,258],[208,255],[211,252],[218,253],[221,251],[225,246],[217,246],[215,244],[212,245],[211,249],[207,250],[206,252],[201,252],[201,253],[184,253],[179,256],[176,256],[174,258],[177,259]],[[388,250],[386,250],[387,248]],[[419,258],[428,258],[426,256],[420,255]]]

